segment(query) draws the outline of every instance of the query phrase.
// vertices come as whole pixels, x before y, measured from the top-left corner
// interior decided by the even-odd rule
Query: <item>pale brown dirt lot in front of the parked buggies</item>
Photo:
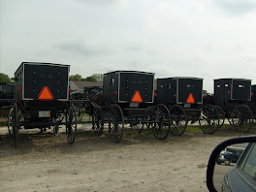
[[[64,133],[37,133],[19,135],[16,148],[2,136],[0,191],[208,191],[211,150],[244,135],[235,130],[185,132],[158,141],[152,133],[129,131],[113,144],[108,134],[83,132],[70,145]]]

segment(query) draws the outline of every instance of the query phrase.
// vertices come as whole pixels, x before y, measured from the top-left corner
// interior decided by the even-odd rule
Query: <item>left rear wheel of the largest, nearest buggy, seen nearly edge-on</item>
[[[19,118],[17,115],[17,108],[16,105],[14,108],[11,108],[9,112],[9,117],[8,117],[8,131],[13,139],[14,145],[16,146],[16,141],[17,141],[17,132],[19,128]]]

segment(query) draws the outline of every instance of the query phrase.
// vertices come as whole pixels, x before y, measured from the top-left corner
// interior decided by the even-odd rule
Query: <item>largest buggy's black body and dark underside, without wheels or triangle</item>
[[[69,65],[23,62],[15,73],[15,100],[24,118],[25,128],[45,126],[58,113],[67,109],[69,100]],[[52,99],[40,100],[42,90],[48,87]],[[48,112],[42,116],[42,112]],[[38,122],[31,124],[31,122]],[[41,123],[41,124],[40,124]]]

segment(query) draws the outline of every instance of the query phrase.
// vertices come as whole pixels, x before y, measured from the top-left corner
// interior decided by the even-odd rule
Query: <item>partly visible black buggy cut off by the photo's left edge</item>
[[[0,116],[8,117],[15,98],[15,83],[0,82]]]

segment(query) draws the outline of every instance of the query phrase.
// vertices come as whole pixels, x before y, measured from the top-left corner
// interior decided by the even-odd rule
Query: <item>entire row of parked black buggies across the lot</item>
[[[225,118],[242,132],[253,126],[256,99],[251,80],[214,80],[214,94],[204,95],[203,79],[154,80],[153,73],[114,71],[104,74],[103,87],[86,87],[80,99],[71,99],[69,71],[69,65],[23,62],[15,83],[0,84],[0,107],[9,110],[8,129],[15,145],[21,128],[52,128],[57,135],[60,126],[74,144],[83,112],[92,116],[97,135],[108,124],[115,143],[121,141],[125,125],[135,133],[151,129],[159,140],[170,132],[181,136],[188,121],[198,122],[207,134]]]

